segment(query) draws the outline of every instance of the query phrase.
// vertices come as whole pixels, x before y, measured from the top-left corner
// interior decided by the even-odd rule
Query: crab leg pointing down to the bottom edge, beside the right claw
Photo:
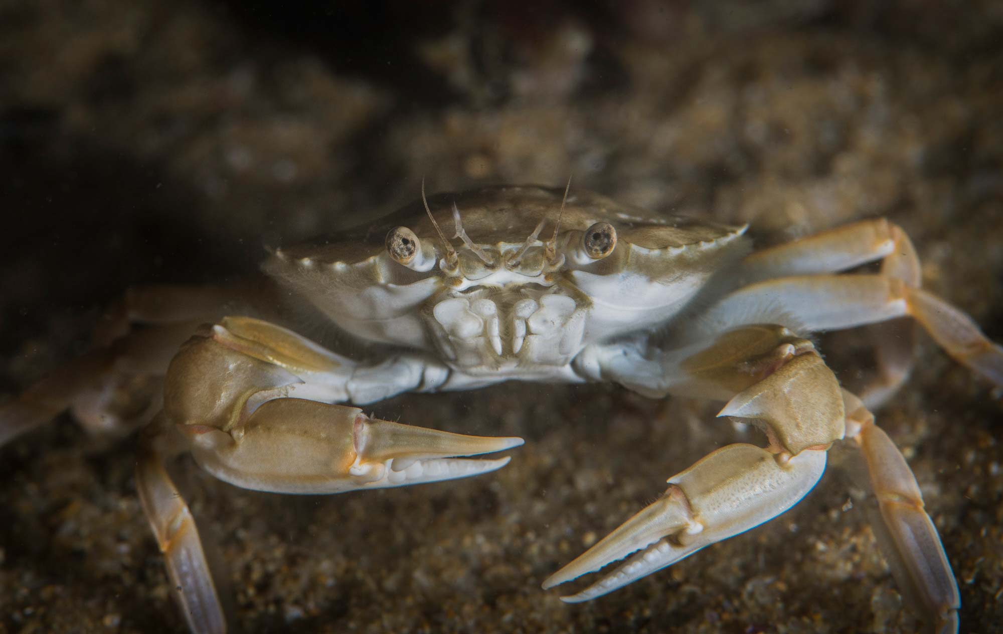
[[[961,596],[916,478],[863,401],[847,390],[843,395],[848,444],[866,465],[867,477],[854,469],[855,480],[869,492],[867,508],[885,559],[907,602],[936,624],[938,634],[953,634]]]

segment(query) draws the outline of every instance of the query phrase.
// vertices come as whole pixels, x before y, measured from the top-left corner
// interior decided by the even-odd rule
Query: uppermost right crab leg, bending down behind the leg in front
[[[753,253],[742,262],[745,283],[792,275],[834,273],[881,259],[881,273],[919,287],[920,259],[902,228],[881,218],[808,236]],[[860,390],[869,407],[878,407],[905,382],[915,362],[916,326],[893,319],[869,327],[878,375]]]

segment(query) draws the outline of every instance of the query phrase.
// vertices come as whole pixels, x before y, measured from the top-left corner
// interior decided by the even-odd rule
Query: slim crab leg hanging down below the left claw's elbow
[[[227,621],[199,530],[164,467],[182,451],[180,438],[173,434],[170,423],[159,417],[144,431],[135,465],[136,491],[189,629],[193,634],[224,634]]]

